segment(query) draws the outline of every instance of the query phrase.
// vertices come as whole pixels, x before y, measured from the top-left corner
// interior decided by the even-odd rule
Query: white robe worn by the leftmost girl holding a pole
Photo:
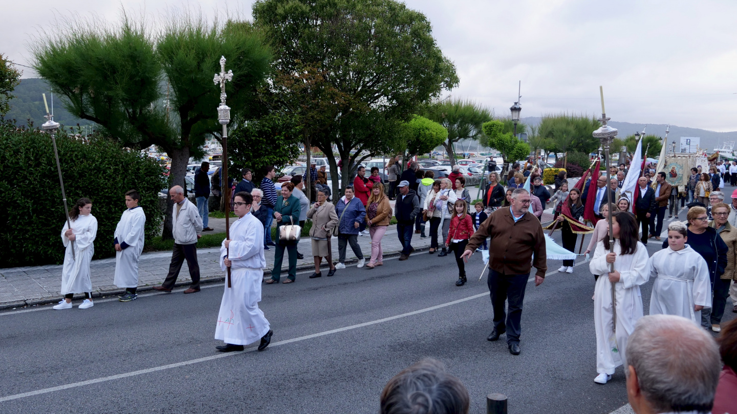
[[[76,239],[71,242],[66,237],[66,222],[61,229],[61,241],[66,247],[64,266],[61,270],[62,295],[67,293],[82,293],[92,291],[90,280],[90,262],[94,255],[94,239],[97,236],[97,219],[92,214],[80,214],[77,220],[71,222],[71,231]],[[76,259],[72,259],[71,249],[74,248]]]

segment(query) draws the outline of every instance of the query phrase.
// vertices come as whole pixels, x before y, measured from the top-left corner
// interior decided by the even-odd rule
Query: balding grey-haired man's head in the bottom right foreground
[[[713,338],[675,315],[641,318],[629,336],[626,365],[654,413],[710,412],[722,364]],[[624,370],[629,375],[629,368]]]

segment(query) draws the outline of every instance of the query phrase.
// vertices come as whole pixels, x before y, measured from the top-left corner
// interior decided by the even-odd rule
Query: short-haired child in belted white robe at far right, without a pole
[[[688,230],[682,222],[668,225],[668,248],[652,255],[650,277],[656,278],[650,297],[650,315],[677,315],[701,326],[701,309],[711,307],[709,267],[686,245]]]

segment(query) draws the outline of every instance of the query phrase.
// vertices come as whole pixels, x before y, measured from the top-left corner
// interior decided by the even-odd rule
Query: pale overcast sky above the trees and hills
[[[737,131],[737,1],[408,0],[433,24],[455,63],[454,98],[509,114],[522,81],[522,116],[601,113],[623,122]],[[253,1],[190,1],[203,13]],[[27,43],[55,14],[97,13],[116,21],[120,7],[151,15],[182,7],[166,0],[4,1],[0,52],[28,64]],[[57,10],[49,10],[56,7]],[[31,69],[24,77],[34,77]],[[737,138],[737,133],[735,138]]]

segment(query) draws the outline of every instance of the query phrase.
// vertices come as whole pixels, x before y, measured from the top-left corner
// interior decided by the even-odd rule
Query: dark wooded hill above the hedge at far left
[[[13,91],[15,98],[10,100],[10,112],[5,115],[5,119],[15,119],[19,125],[27,125],[27,120],[30,119],[35,126],[41,126],[43,122],[46,122],[46,119],[43,118],[46,110],[43,108],[41,94],[46,94],[50,110],[51,88],[46,81],[38,77],[22,79],[21,84]],[[92,124],[92,122],[71,116],[71,113],[63,107],[59,97],[54,99],[54,120],[66,127]]]

